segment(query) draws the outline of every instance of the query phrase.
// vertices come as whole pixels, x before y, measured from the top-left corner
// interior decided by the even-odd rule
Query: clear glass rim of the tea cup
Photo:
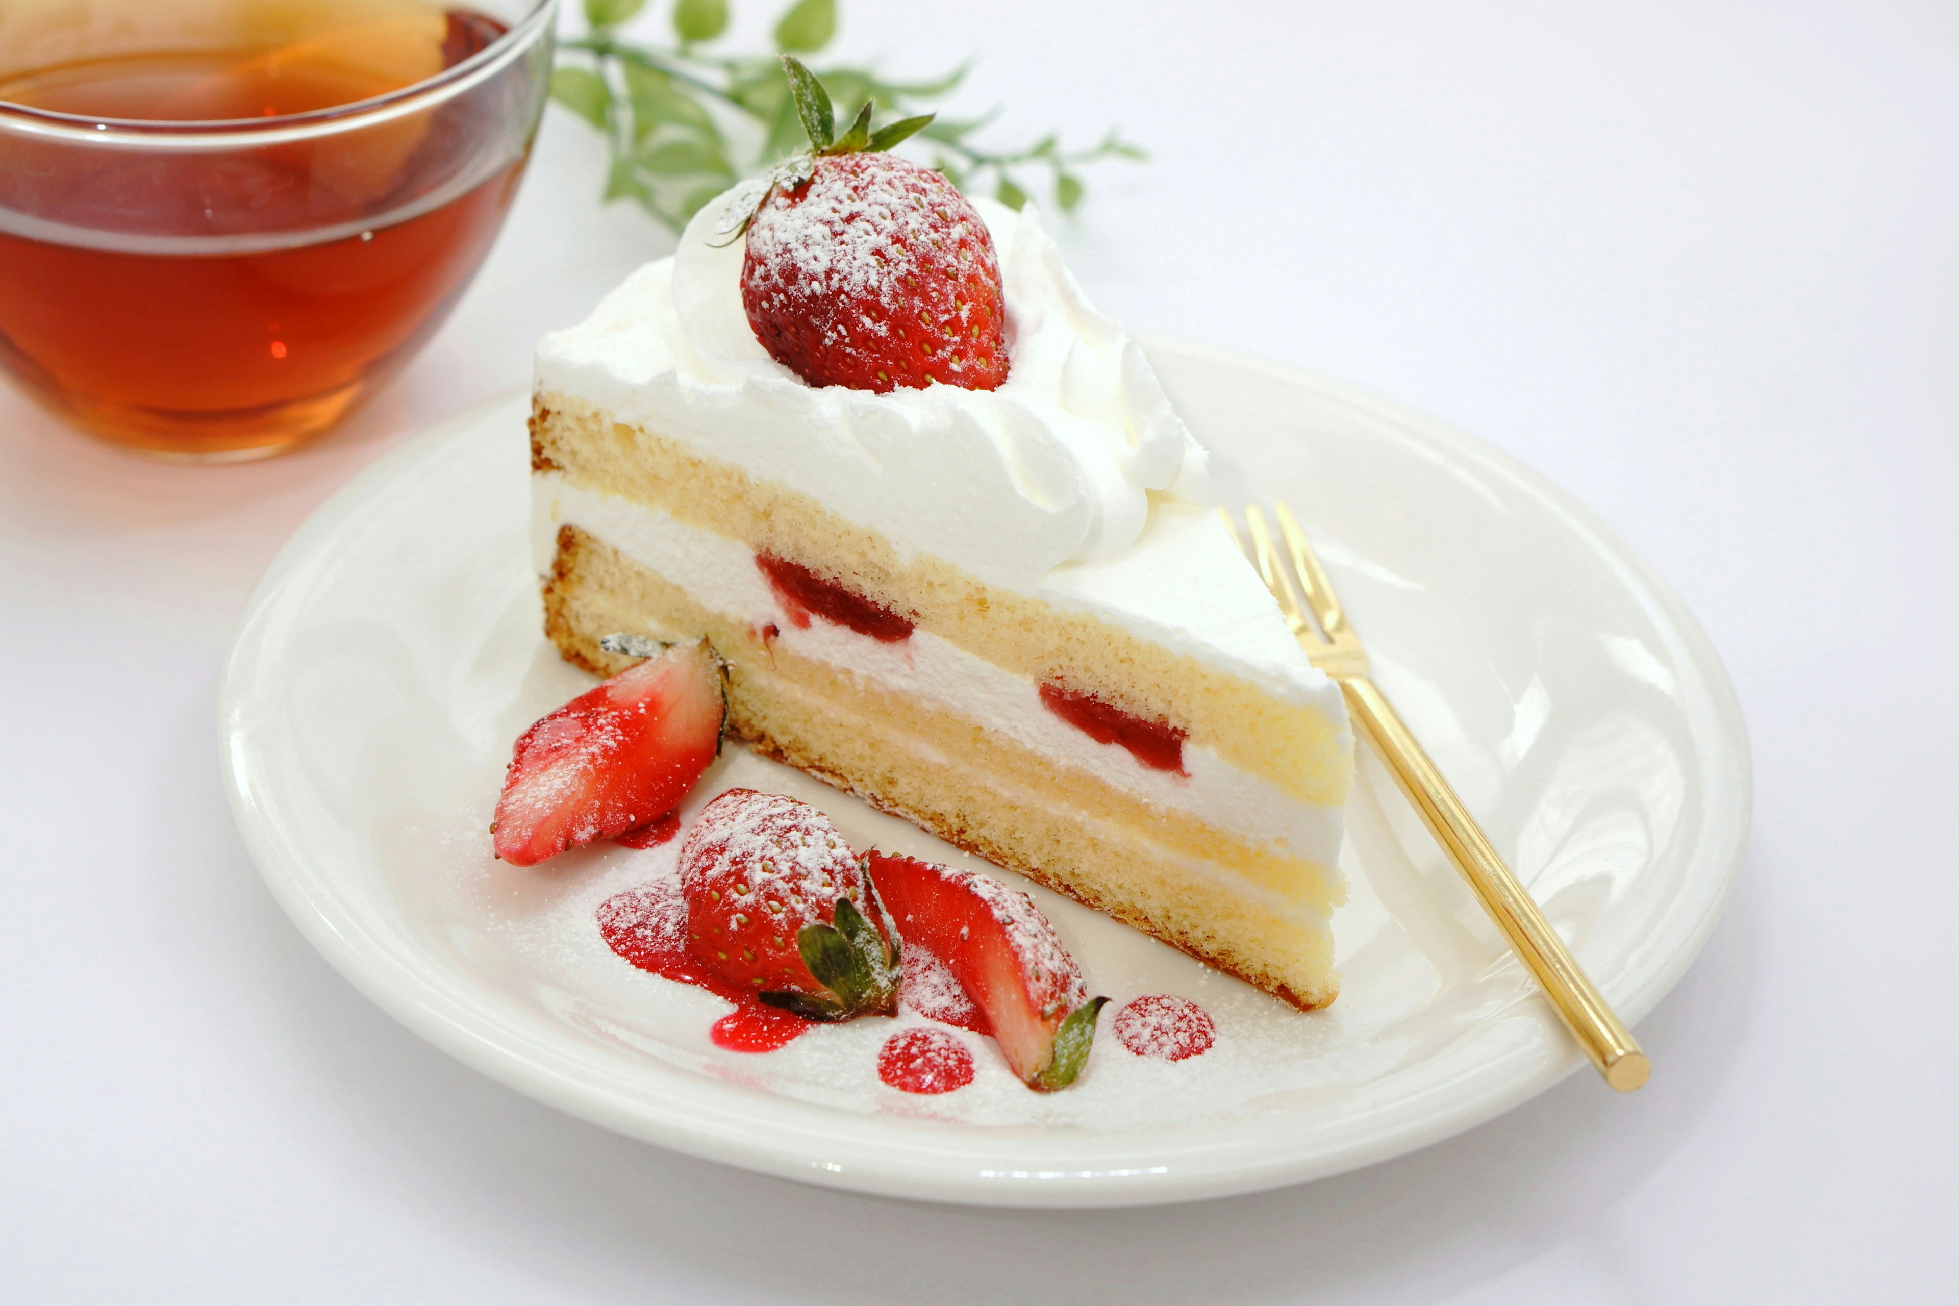
[[[118,149],[241,149],[311,141],[325,135],[360,131],[409,114],[421,114],[445,100],[480,86],[519,55],[554,31],[558,0],[531,0],[529,12],[503,35],[453,69],[409,82],[398,90],[306,114],[276,117],[90,117],[57,114],[12,100],[0,100],[0,135],[24,135],[72,145],[112,145]]]

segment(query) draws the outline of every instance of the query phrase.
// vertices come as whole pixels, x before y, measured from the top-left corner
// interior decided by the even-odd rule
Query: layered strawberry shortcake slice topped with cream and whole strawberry
[[[547,632],[705,640],[750,748],[1324,1006],[1352,736],[1205,450],[1032,211],[786,65],[809,153],[539,345]]]

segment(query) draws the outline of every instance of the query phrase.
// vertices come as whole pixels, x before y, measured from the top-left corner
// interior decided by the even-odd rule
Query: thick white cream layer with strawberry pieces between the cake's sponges
[[[558,527],[572,525],[686,589],[701,607],[742,625],[774,625],[786,650],[885,691],[938,703],[1021,748],[1158,809],[1181,811],[1254,848],[1309,858],[1336,873],[1340,809],[1301,803],[1275,785],[1185,742],[1185,775],[1142,766],[1119,744],[1099,744],[1040,701],[1040,685],[932,634],[882,642],[821,617],[797,627],[741,540],[701,531],[621,495],[541,472],[533,486],[533,562],[550,572]]]

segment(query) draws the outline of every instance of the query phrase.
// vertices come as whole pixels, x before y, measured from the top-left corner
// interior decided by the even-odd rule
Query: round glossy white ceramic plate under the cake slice
[[[1747,826],[1742,719],[1695,621],[1585,509],[1465,435],[1213,350],[1160,341],[1152,356],[1224,497],[1299,509],[1381,683],[1636,1022],[1712,928]],[[1324,1012],[1034,889],[1091,991],[1193,997],[1217,1046],[1146,1061],[1105,1018],[1083,1079],[1034,1095],[970,1038],[978,1079],[942,1096],[878,1083],[885,1020],[766,1055],[713,1048],[719,999],[617,959],[592,916],[670,867],[674,844],[535,869],[490,858],[511,740],[590,683],[539,630],[523,417],[509,396],[447,421],[321,507],[261,583],[221,703],[233,811],[272,893],[347,979],[453,1055],[693,1155],[1015,1206],[1330,1175],[1581,1065],[1371,758],[1348,807],[1354,897],[1334,918],[1344,989]],[[739,748],[693,807],[731,783],[821,805],[858,848],[966,862]]]

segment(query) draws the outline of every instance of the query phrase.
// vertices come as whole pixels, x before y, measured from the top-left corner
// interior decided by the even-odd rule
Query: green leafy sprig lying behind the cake
[[[558,43],[560,59],[550,96],[605,133],[611,168],[607,200],[635,200],[676,231],[737,178],[760,172],[811,135],[789,94],[780,55],[815,55],[836,35],[836,0],[795,0],[776,22],[776,49],[731,55],[713,47],[729,29],[729,0],[674,0],[672,43],[627,41],[619,27],[646,0],[584,0],[590,31]],[[876,69],[831,65],[817,70],[856,127],[868,114],[901,119],[958,90],[972,70],[962,63],[944,76],[895,82]],[[874,108],[876,106],[876,108]],[[997,112],[997,110],[995,110]],[[985,149],[974,141],[995,114],[934,117],[919,129],[931,141],[932,166],[968,194],[991,194],[1013,208],[1028,200],[1028,174],[1046,174],[1058,208],[1074,210],[1083,196],[1081,168],[1105,159],[1142,161],[1148,155],[1111,129],[1087,149],[1066,149],[1048,133],[1023,149]]]

